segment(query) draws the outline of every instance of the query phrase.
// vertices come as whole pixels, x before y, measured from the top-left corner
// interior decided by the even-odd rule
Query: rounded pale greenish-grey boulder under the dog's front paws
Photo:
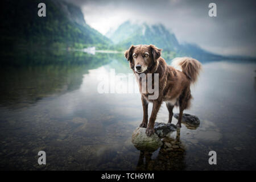
[[[155,151],[163,144],[155,133],[147,137],[146,128],[144,127],[137,127],[137,129],[134,130],[131,142],[133,142],[138,150],[142,151]]]

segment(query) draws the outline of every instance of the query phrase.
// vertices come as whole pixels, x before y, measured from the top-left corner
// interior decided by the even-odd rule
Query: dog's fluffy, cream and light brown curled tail
[[[176,69],[181,69],[192,83],[196,82],[202,68],[201,63],[191,57],[177,57],[172,60],[172,65]]]

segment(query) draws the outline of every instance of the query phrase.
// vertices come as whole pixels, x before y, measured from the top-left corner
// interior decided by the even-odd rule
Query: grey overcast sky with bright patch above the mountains
[[[209,3],[217,17],[209,17]],[[125,20],[162,23],[180,43],[198,44],[223,55],[256,56],[256,1],[208,0],[73,0],[86,23],[106,34]]]

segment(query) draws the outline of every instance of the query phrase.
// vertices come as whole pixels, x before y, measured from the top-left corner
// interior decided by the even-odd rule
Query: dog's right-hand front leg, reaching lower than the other
[[[153,101],[153,108],[152,108],[152,112],[151,112],[151,116],[150,116],[150,121],[149,121],[147,129],[146,129],[146,134],[148,137],[150,137],[150,135],[155,133],[155,130],[154,130],[155,119],[156,119],[156,115],[158,114],[161,104],[162,104],[162,101],[159,101],[159,100]]]

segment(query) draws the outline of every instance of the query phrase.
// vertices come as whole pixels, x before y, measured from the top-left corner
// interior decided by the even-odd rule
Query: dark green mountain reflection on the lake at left
[[[110,62],[106,55],[66,51],[19,51],[3,56],[0,72],[0,103],[23,107],[44,97],[79,89],[90,69]]]

